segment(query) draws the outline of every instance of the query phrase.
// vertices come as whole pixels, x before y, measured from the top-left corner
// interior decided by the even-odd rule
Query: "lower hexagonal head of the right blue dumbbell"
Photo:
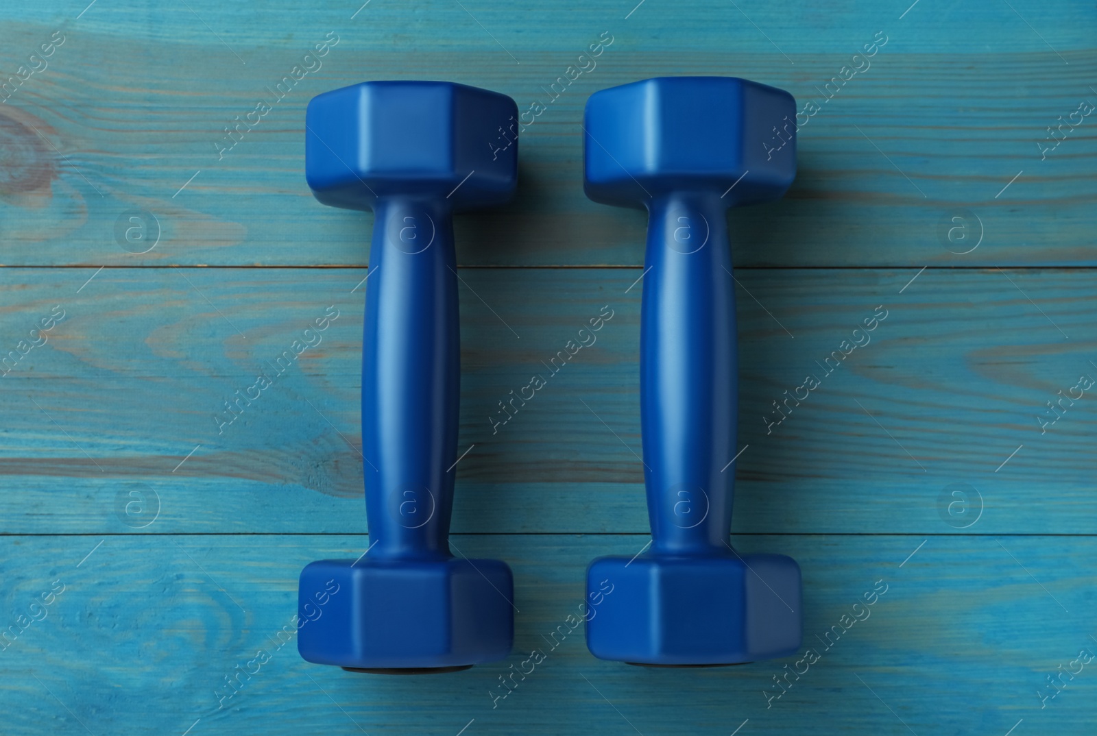
[[[600,557],[587,589],[611,591],[587,623],[601,659],[733,665],[800,648],[800,567],[783,555]]]

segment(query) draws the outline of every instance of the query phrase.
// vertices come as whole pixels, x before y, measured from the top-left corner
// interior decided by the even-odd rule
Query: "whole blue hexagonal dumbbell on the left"
[[[371,545],[358,561],[302,571],[297,649],[308,661],[406,673],[510,652],[510,568],[450,552],[461,381],[452,214],[513,195],[518,147],[493,144],[517,115],[509,97],[448,82],[365,82],[308,103],[309,188],[324,204],[374,213],[362,337]]]

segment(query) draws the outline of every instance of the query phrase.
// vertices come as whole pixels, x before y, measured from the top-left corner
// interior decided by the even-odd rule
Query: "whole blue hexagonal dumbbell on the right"
[[[800,647],[800,567],[727,541],[738,361],[725,213],[788,190],[794,115],[788,92],[728,77],[648,79],[587,102],[587,196],[648,211],[640,388],[652,546],[587,570],[596,657],[730,665]]]

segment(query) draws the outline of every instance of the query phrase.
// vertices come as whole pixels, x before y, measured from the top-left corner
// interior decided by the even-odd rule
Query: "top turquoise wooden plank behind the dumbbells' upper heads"
[[[545,89],[606,32],[612,45],[583,63],[590,71],[522,135],[517,201],[460,218],[461,263],[640,264],[643,213],[583,194],[579,123],[591,92],[666,73],[744,76],[819,109],[799,118],[800,174],[789,195],[732,217],[742,265],[1097,262],[1089,227],[1097,138],[1087,133],[1095,118],[1081,129],[1067,124],[1054,134],[1061,144],[1042,150],[1052,146],[1048,126],[1083,101],[1097,103],[1095,21],[1074,2],[1018,12],[1006,3],[957,7],[943,16],[917,7],[902,20],[895,9],[852,5],[805,19],[782,2],[671,9],[653,1],[627,19],[609,0],[567,12],[433,0],[409,13],[375,2],[353,20],[342,5],[303,16],[285,0],[262,13],[191,5],[120,0],[79,20],[67,5],[0,9],[7,73],[58,29],[66,38],[0,105],[0,261],[364,265],[372,216],[323,207],[305,185],[310,97],[444,70],[512,95],[524,111],[551,99]],[[886,43],[855,61],[878,31]],[[225,127],[328,32],[339,43],[323,66],[219,154]],[[845,65],[864,69],[838,92],[838,82],[826,88],[850,73]],[[131,211],[151,213],[138,216],[159,230],[144,254],[129,251],[148,240],[117,242]],[[955,216],[968,229],[949,244],[942,233],[958,226]]]

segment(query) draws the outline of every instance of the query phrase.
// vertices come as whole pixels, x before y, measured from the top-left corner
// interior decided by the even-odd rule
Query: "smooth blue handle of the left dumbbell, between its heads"
[[[377,203],[362,336],[372,558],[451,556],[461,388],[455,268],[446,203]]]

